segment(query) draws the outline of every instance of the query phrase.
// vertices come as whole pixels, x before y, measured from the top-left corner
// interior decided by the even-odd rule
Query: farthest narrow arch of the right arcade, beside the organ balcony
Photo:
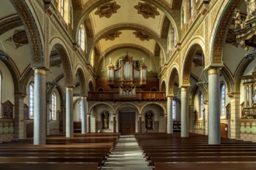
[[[173,94],[175,92],[175,88],[174,88],[175,83],[179,84],[179,82],[175,82],[175,79],[177,79],[176,76],[178,76],[178,80],[179,80],[178,65],[173,64],[171,66],[171,71],[170,71],[168,84],[167,84],[167,95]]]

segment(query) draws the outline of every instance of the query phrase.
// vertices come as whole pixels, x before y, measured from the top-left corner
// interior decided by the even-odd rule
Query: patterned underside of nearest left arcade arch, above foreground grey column
[[[43,39],[41,39],[40,22],[36,19],[36,12],[33,10],[29,1],[10,0],[12,5],[16,8],[22,19],[23,26],[26,28],[26,36],[28,37],[31,49],[31,66],[44,67],[43,59]]]

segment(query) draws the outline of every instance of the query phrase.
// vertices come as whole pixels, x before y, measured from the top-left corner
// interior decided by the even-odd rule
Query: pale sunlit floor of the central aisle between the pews
[[[121,136],[102,169],[151,170],[134,136]]]

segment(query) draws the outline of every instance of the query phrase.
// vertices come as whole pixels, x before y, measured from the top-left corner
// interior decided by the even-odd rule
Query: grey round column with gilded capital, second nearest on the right
[[[181,117],[181,124],[182,124],[182,132],[181,137],[186,138],[189,137],[189,87],[183,86],[181,87],[182,91],[182,117]]]

